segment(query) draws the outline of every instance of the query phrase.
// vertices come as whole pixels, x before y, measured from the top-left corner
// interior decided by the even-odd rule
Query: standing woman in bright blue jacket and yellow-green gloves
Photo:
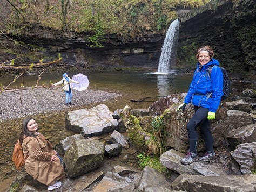
[[[213,150],[213,137],[208,120],[215,119],[215,112],[220,105],[220,99],[223,95],[223,74],[219,67],[219,62],[213,59],[214,53],[210,46],[204,46],[197,52],[197,69],[194,72],[193,80],[190,84],[184,103],[181,104],[177,111],[184,111],[188,103],[194,105],[194,115],[187,124],[188,138],[190,149],[181,163],[188,165],[198,159],[201,161],[212,161],[215,159]],[[212,67],[212,65],[214,65]],[[207,69],[211,69],[211,77]],[[206,153],[203,157],[197,155],[198,133],[197,127],[200,125],[200,131],[203,134],[206,145]]]

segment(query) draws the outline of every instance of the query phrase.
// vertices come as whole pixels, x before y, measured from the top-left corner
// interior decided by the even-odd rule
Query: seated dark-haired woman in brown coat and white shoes
[[[22,143],[24,157],[29,155],[25,161],[25,170],[51,191],[61,186],[58,180],[65,176],[64,168],[50,141],[37,131],[37,123],[32,117],[23,121],[19,141]]]

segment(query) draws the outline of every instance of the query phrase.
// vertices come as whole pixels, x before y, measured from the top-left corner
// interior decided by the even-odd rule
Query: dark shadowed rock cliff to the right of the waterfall
[[[181,15],[180,65],[192,63],[197,49],[210,45],[215,58],[228,72],[244,72],[253,77],[256,69],[255,6],[255,0],[215,0]]]

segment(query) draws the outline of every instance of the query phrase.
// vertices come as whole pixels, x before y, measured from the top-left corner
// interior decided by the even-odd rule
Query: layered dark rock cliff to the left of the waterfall
[[[29,31],[26,31],[26,34],[19,36],[19,40],[26,42],[26,44],[42,47],[39,52],[48,59],[57,57],[60,53],[64,64],[76,65],[84,69],[152,69],[158,67],[165,34],[145,35],[136,38],[118,37],[114,34],[108,35],[105,37],[106,42],[104,42],[103,48],[88,47],[87,37],[88,34],[85,33],[63,33],[41,27],[32,27]]]

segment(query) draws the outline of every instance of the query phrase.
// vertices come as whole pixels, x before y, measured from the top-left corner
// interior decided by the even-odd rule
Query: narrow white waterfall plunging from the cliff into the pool
[[[174,20],[166,33],[164,45],[161,49],[157,73],[174,73],[171,69],[176,63],[176,52],[179,36],[179,20]]]

